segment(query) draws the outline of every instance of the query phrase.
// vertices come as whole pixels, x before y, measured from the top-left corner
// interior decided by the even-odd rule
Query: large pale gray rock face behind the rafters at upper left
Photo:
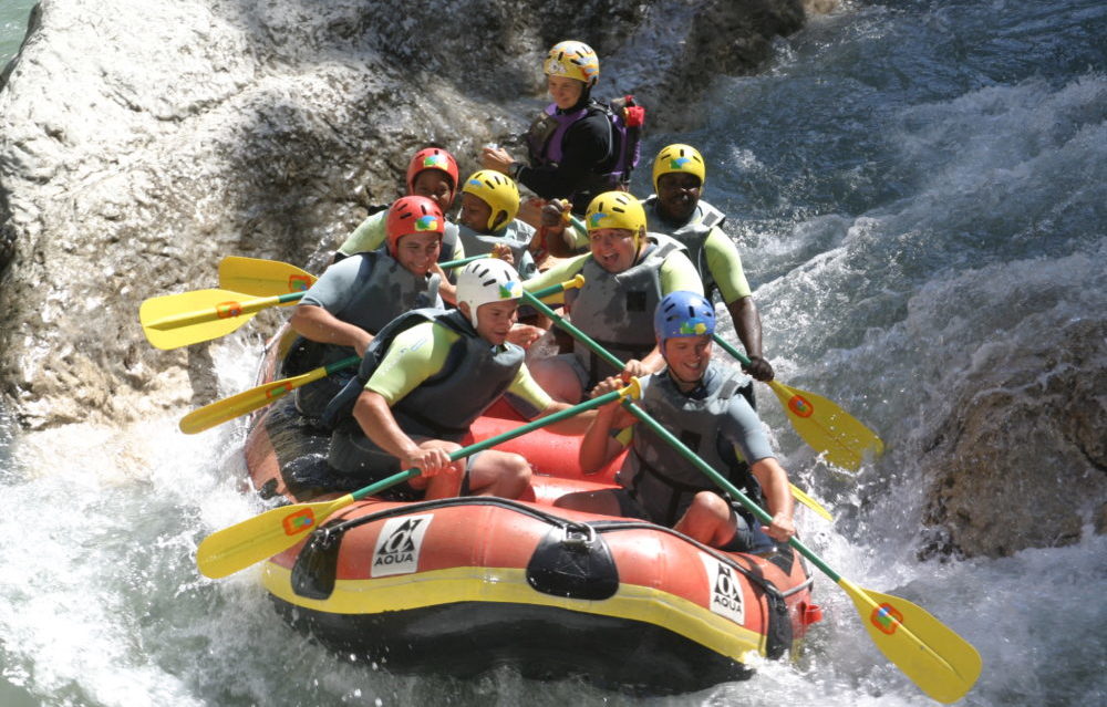
[[[756,20],[735,41],[765,46],[801,18],[799,0],[44,1],[0,92],[4,405],[42,428],[209,402],[205,347],[152,349],[143,300],[215,287],[227,254],[318,271],[366,205],[400,195],[416,148],[442,144],[464,171],[521,132],[562,39],[597,49],[601,95],[644,87],[660,127],[665,52],[721,7]]]

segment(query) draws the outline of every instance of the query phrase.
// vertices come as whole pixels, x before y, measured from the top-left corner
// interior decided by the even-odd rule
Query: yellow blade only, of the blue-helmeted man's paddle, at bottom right
[[[869,637],[922,692],[940,703],[953,703],[980,677],[976,648],[952,628],[906,599],[861,589],[839,578],[861,615]]]

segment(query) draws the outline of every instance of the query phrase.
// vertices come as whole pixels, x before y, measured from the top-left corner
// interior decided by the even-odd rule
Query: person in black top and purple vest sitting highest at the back
[[[542,199],[567,198],[583,214],[593,197],[625,184],[625,136],[613,125],[612,111],[592,100],[600,60],[583,42],[555,44],[542,62],[546,87],[554,102],[527,132],[530,164],[516,162],[501,147],[486,146],[485,169],[506,174]],[[641,121],[641,106],[630,108]],[[558,253],[555,253],[558,254]]]

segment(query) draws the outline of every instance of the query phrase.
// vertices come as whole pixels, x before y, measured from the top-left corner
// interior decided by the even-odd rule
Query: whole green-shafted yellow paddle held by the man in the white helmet
[[[463,457],[488,449],[489,447],[495,447],[509,439],[521,437],[527,433],[552,425],[573,415],[607,405],[619,398],[637,396],[640,393],[641,389],[638,381],[632,381],[622,389],[612,391],[607,395],[601,395],[580,405],[573,405],[547,417],[496,435],[495,437],[462,447],[452,453],[449,459],[456,461]],[[418,476],[418,474],[420,471],[416,468],[407,469],[332,501],[282,506],[229,528],[224,528],[211,533],[200,542],[199,548],[196,549],[196,565],[200,572],[213,579],[232,574],[291,548],[297,542],[300,542],[309,530],[314,529],[335,511],[345,508],[354,501],[406,481]]]

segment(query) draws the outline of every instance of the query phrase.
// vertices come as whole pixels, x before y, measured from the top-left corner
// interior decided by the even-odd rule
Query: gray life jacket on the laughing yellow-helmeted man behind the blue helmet
[[[584,287],[566,291],[573,325],[622,362],[641,360],[656,344],[653,312],[662,298],[661,266],[670,253],[684,250],[664,233],[646,233],[645,239],[644,256],[619,273],[588,257],[580,270]],[[579,342],[573,342],[573,354],[589,374],[589,387],[620,372]]]

